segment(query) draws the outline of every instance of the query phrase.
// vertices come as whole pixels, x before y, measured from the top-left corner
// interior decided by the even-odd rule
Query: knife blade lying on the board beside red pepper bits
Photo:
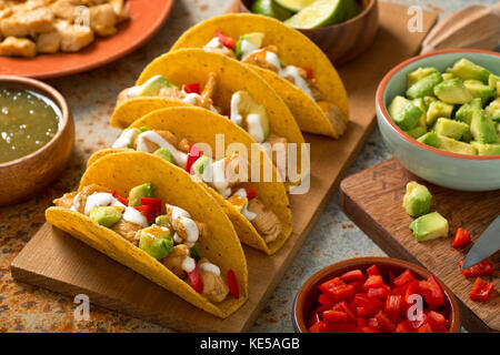
[[[488,256],[500,250],[500,215],[491,223],[488,229],[476,241],[474,245],[467,254],[463,261],[462,270],[469,268],[477,263],[482,262]]]

